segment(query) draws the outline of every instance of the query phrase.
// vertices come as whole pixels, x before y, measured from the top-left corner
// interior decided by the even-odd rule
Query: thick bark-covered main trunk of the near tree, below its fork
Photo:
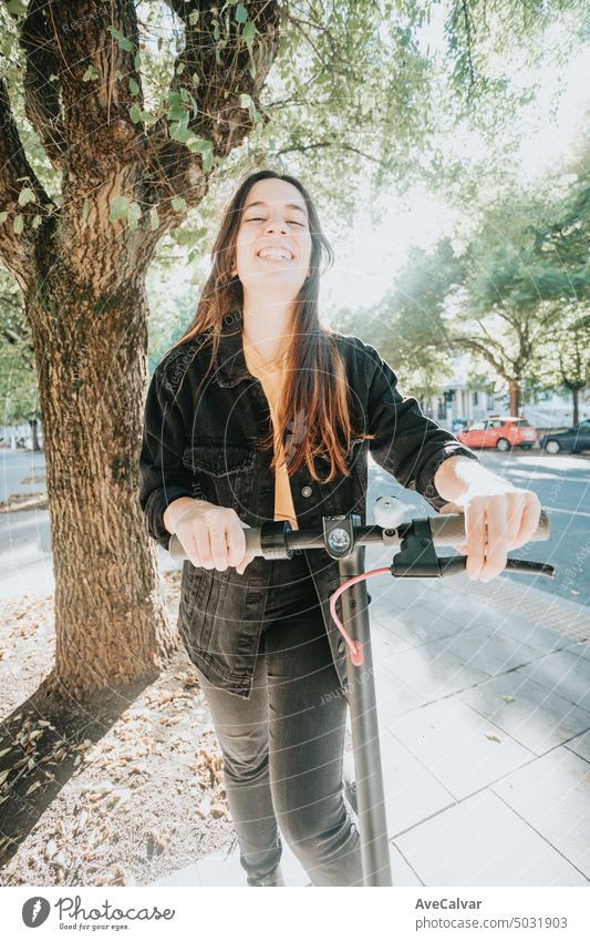
[[[51,275],[42,301],[37,296],[28,309],[55,576],[55,665],[44,692],[80,699],[155,675],[175,643],[137,501],[147,381],[143,282],[130,278],[93,303],[60,265]]]

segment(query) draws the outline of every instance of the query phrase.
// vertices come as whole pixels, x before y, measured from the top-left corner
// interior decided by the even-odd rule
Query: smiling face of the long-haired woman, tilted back
[[[241,212],[232,269],[245,295],[297,297],[311,248],[306,201],[297,186],[275,178],[255,183]]]

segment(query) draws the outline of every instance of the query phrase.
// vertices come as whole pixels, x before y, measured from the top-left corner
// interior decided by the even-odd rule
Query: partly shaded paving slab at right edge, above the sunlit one
[[[464,689],[458,697],[536,755],[590,728],[590,713],[520,671]]]

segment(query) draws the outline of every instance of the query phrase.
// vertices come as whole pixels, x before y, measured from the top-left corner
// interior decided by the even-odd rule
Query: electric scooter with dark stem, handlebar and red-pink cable
[[[263,559],[291,559],[296,550],[323,549],[338,561],[340,586],[330,596],[330,613],[349,648],[346,658],[348,702],[351,717],[355,781],[348,797],[359,818],[364,886],[393,886],[379,724],[373,678],[371,631],[366,580],[390,574],[394,579],[439,579],[458,574],[466,567],[464,555],[439,556],[436,546],[458,546],[465,542],[462,513],[401,521],[402,504],[395,497],[375,501],[374,525],[361,525],[358,514],[323,516],[320,530],[293,530],[288,521],[267,522],[245,529],[246,550]],[[541,510],[532,541],[549,539],[549,521]],[[364,548],[385,545],[396,550],[390,566],[364,571]],[[176,535],[168,551],[174,559],[186,559]],[[555,569],[542,562],[508,559],[506,572],[545,575]],[[345,594],[344,594],[345,593]],[[342,621],[335,603],[342,595]]]

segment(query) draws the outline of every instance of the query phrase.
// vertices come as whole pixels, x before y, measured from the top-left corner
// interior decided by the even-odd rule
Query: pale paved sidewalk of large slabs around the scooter
[[[590,612],[525,576],[370,584],[394,884],[588,886]],[[153,884],[246,884],[226,852]]]

